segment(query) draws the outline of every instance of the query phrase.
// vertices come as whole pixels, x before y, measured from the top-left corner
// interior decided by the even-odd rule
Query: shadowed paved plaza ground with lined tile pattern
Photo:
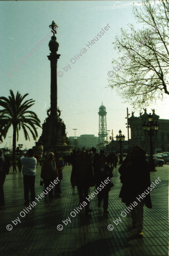
[[[119,167],[119,166],[118,166]],[[2,256],[168,256],[168,183],[169,165],[156,167],[151,172],[151,181],[161,180],[151,191],[153,209],[144,207],[144,237],[138,238],[131,228],[130,213],[121,217],[126,208],[118,198],[121,183],[118,168],[112,178],[115,186],[109,192],[109,214],[97,207],[97,198],[90,200],[91,214],[84,209],[76,211],[79,197],[77,188],[70,185],[71,166],[66,166],[61,182],[60,197],[42,198],[31,210],[25,209],[22,174],[6,176],[4,184],[5,207],[0,210],[0,255]],[[43,191],[40,183],[41,167],[35,179],[36,198]],[[90,188],[89,195],[95,187]],[[75,209],[75,210],[74,210]],[[72,213],[71,217],[70,213]],[[21,213],[22,212],[22,213]],[[21,217],[21,215],[22,217]],[[19,217],[19,220],[18,220]],[[115,225],[121,217],[122,223]],[[70,221],[62,222],[69,219]],[[16,220],[13,224],[12,220]],[[19,223],[19,221],[21,223]],[[63,230],[57,230],[61,224]],[[66,225],[67,224],[67,225]],[[108,230],[112,224],[114,229]],[[9,229],[6,230],[7,225]],[[58,228],[62,228],[59,226]]]

